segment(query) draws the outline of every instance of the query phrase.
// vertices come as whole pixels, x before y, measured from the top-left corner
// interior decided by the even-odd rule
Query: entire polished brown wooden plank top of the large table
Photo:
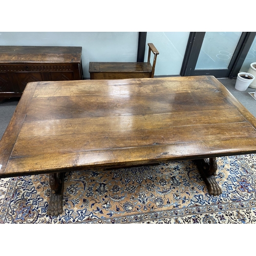
[[[255,128],[213,76],[30,82],[0,177],[256,153]]]

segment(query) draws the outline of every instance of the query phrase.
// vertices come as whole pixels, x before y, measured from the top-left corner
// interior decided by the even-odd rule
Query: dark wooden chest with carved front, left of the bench
[[[82,79],[81,47],[0,46],[0,101],[33,81]]]

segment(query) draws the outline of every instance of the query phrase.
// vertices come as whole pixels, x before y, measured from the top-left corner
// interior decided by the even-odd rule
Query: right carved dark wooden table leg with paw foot
[[[199,172],[207,185],[210,195],[219,196],[222,193],[220,185],[216,181],[217,161],[216,157],[195,160]]]

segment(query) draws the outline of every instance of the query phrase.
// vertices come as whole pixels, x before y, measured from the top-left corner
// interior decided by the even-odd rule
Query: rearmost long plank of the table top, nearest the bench
[[[182,83],[182,86],[181,86]],[[139,95],[143,93],[162,94],[168,90],[173,93],[193,90],[215,90],[216,86],[205,77],[196,79],[168,78],[143,78],[143,79],[114,79],[114,80],[74,80],[40,82],[34,97],[60,97],[60,96],[85,96],[85,95]]]

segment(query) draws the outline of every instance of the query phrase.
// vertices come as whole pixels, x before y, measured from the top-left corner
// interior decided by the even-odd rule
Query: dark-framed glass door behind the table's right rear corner
[[[181,75],[228,77],[248,32],[191,32]]]

